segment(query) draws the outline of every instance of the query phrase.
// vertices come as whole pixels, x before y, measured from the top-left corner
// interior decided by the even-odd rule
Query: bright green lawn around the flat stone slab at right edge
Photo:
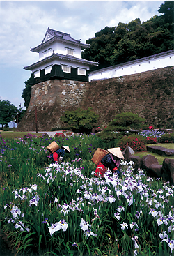
[[[158,143],[158,144],[148,144],[147,146],[162,146],[166,149],[174,149],[174,143]],[[136,156],[139,156],[142,158],[143,156],[151,155],[155,156],[157,158],[159,165],[162,165],[165,158],[174,159],[174,156],[159,156],[157,153],[152,153],[149,151],[143,151],[143,152],[136,152]]]

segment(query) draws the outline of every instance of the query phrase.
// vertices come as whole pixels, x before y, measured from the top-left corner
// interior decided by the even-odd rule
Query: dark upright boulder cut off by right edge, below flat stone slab
[[[162,164],[162,179],[174,185],[174,159],[165,158]]]

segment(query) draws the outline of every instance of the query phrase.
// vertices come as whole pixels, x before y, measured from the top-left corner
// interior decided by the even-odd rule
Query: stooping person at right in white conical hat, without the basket
[[[97,168],[95,170],[94,175],[97,177],[102,177],[105,174],[107,168],[109,168],[111,172],[116,172],[118,174],[120,173],[118,170],[118,167],[120,165],[120,159],[124,159],[122,151],[120,150],[120,148],[107,149],[107,151],[109,151],[109,153],[102,158],[101,162],[99,163],[99,165],[97,165]]]

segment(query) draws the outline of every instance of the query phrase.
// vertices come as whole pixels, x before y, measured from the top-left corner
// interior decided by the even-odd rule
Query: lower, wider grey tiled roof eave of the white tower
[[[72,61],[72,62],[77,62],[77,63],[84,63],[88,66],[98,66],[97,62],[94,61],[88,61],[86,59],[79,59],[75,57],[67,57],[65,55],[61,54],[52,54],[49,57],[46,57],[45,59],[42,59],[41,61],[35,62],[31,64],[30,66],[25,66],[24,70],[33,70],[33,68],[39,67],[43,63],[49,63],[52,59],[65,59],[66,61]]]

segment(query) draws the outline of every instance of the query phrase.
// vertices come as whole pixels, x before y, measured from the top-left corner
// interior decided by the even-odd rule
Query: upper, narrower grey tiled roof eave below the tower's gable
[[[43,47],[45,47],[46,45],[51,45],[54,41],[61,41],[63,43],[70,43],[72,45],[78,45],[78,46],[81,46],[82,49],[86,49],[88,47],[90,47],[90,45],[87,45],[85,43],[80,43],[79,41],[70,41],[70,40],[66,40],[64,38],[57,38],[56,36],[54,36],[53,38],[47,40],[45,43],[41,43],[40,45],[34,47],[34,48],[31,48],[31,52],[39,52],[40,49],[42,49]]]

